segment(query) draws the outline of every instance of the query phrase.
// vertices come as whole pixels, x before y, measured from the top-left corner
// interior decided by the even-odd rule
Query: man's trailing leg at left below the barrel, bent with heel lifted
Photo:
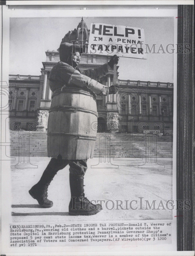
[[[68,164],[68,162],[69,162],[68,160],[62,159],[61,156],[58,156],[57,159],[51,158],[39,182],[29,190],[29,194],[33,198],[37,199],[38,203],[41,206],[46,208],[53,206],[53,202],[47,199],[48,186],[50,185],[56,173],[59,170],[63,169]]]

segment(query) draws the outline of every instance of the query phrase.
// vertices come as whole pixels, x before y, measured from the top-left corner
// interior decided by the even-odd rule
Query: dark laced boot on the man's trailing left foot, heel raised
[[[38,201],[38,203],[44,208],[50,208],[53,206],[53,202],[47,199],[47,190],[49,184],[41,185],[39,182],[35,184],[30,190],[29,194]]]

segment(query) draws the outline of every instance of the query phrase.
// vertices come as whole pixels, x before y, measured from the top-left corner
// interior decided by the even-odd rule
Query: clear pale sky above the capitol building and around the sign
[[[10,18],[9,74],[40,75],[45,51],[57,50],[69,30],[77,28],[81,17]],[[166,49],[174,43],[172,17],[84,17],[91,23],[105,23],[143,28],[145,43]],[[171,49],[171,48],[169,48]],[[148,53],[147,59],[120,58],[119,79],[173,82],[174,54]]]

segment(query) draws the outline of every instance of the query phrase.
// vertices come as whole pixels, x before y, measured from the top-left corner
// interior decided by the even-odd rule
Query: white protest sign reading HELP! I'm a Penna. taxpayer
[[[144,29],[91,23],[88,53],[146,59]]]

